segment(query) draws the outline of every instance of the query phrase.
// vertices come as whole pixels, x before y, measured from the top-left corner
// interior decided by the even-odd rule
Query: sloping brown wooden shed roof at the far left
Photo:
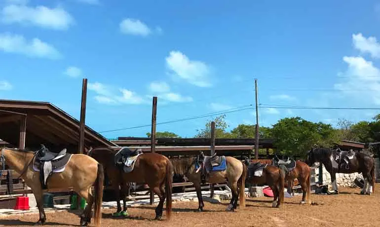
[[[48,102],[0,100],[0,138],[17,145],[20,119],[26,115],[26,148],[40,144],[54,148],[77,149],[79,121]],[[88,126],[84,131],[85,147],[117,146]],[[69,149],[68,149],[69,150]]]

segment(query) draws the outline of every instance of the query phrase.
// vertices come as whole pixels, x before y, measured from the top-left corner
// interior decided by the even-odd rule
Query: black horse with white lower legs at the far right
[[[362,173],[364,187],[361,194],[371,194],[375,187],[375,159],[364,152],[341,151],[340,149],[313,148],[306,154],[305,163],[323,164],[331,175],[333,193],[339,193],[336,173]]]

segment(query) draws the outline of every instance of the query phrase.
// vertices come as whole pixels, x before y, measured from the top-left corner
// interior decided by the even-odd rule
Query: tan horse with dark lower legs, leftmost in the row
[[[10,169],[20,174],[25,183],[32,189],[36,197],[39,220],[37,225],[46,222],[43,209],[43,190],[40,183],[39,172],[33,170],[35,157],[38,152],[17,150],[10,148],[1,149],[0,163],[6,162]],[[85,154],[72,154],[64,171],[52,173],[47,182],[48,189],[73,188],[87,201],[87,207],[80,216],[80,225],[87,226],[91,222],[91,210],[94,205],[94,223],[99,226],[101,222],[101,208],[103,200],[104,172],[102,164]],[[95,194],[91,192],[94,186]]]

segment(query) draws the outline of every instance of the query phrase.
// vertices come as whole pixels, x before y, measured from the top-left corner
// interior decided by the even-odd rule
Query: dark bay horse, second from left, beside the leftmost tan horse
[[[115,214],[124,212],[127,208],[125,206],[125,194],[127,183],[140,183],[148,184],[149,188],[153,190],[159,197],[159,203],[155,209],[155,220],[162,219],[163,204],[166,195],[166,219],[169,220],[172,211],[172,181],[173,181],[173,165],[170,160],[164,155],[158,153],[143,153],[139,155],[135,161],[133,171],[125,173],[121,168],[117,167],[114,163],[114,157],[117,151],[111,148],[95,148],[88,152],[88,155],[95,158],[98,162],[102,163],[106,175],[111,181],[114,188],[117,211]],[[121,186],[121,195],[119,186]],[[164,189],[165,187],[165,189]],[[120,197],[124,202],[124,210],[121,211]],[[114,214],[114,215],[115,215]],[[127,214],[126,214],[127,215]]]

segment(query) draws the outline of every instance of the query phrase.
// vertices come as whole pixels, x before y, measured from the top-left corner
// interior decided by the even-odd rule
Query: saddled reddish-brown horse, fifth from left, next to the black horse
[[[286,160],[282,160],[275,156],[273,159],[254,159],[253,162],[261,162],[269,165],[274,165],[283,169],[285,171],[285,187],[289,194],[293,192],[294,179],[297,178],[298,182],[301,185],[302,189],[302,200],[301,204],[307,203],[310,204],[310,167],[303,161],[289,159],[290,165],[292,167],[285,164],[281,164],[281,162]],[[293,164],[294,163],[294,164]]]

